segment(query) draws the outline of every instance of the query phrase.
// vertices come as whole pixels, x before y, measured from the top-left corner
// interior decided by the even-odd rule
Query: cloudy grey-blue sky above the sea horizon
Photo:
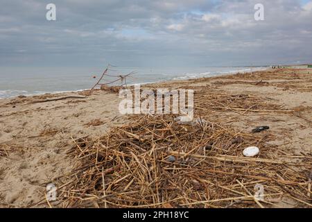
[[[46,19],[46,5],[56,20]],[[254,19],[254,5],[264,20]],[[0,67],[312,63],[312,1],[2,0]]]

